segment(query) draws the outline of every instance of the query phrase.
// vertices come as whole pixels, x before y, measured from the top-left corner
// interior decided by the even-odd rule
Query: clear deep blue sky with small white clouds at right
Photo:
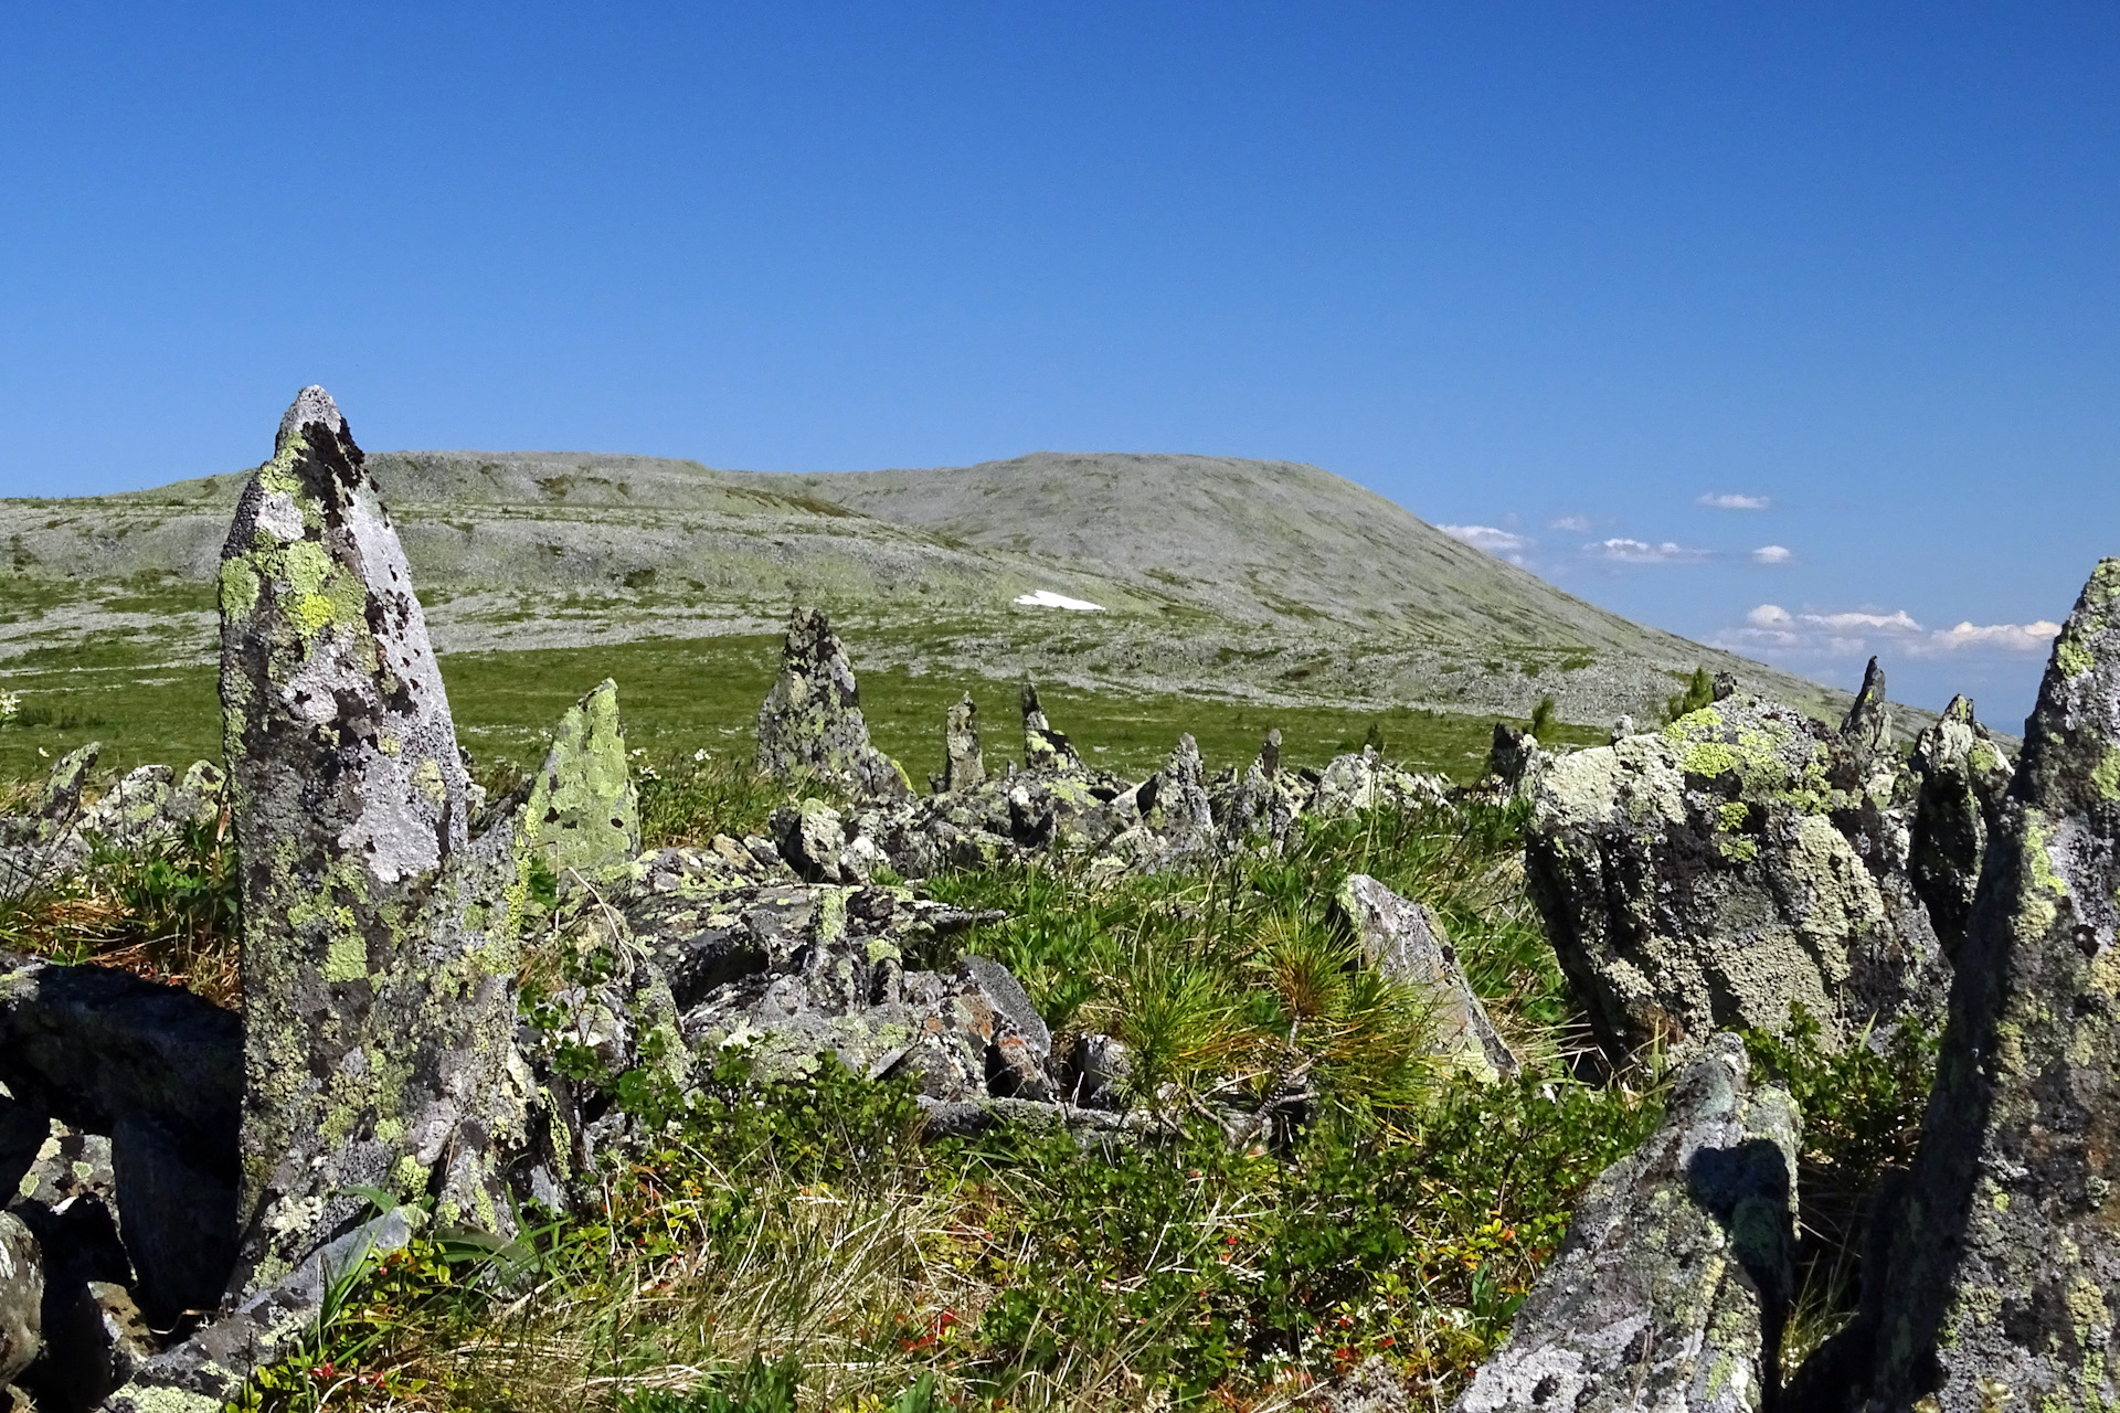
[[[1289,458],[2012,727],[2120,553],[2114,6],[19,4],[0,193],[0,494]]]

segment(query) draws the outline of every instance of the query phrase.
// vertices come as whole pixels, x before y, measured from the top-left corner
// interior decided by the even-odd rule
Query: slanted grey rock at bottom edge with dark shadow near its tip
[[[1794,1294],[1800,1116],[1715,1036],[1668,1119],[1584,1195],[1456,1413],[1738,1413],[1772,1405]]]

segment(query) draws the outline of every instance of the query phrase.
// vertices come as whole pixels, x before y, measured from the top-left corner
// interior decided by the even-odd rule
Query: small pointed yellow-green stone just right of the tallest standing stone
[[[524,847],[551,873],[611,881],[640,854],[640,792],[625,765],[619,686],[604,678],[577,701],[530,782]]]

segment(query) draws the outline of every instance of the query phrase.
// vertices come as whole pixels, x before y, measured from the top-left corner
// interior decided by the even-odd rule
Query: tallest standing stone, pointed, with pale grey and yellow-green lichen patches
[[[220,553],[220,701],[242,875],[233,1294],[369,1208],[507,1231],[522,1135],[513,818],[469,837],[426,619],[346,419],[303,388]]]

